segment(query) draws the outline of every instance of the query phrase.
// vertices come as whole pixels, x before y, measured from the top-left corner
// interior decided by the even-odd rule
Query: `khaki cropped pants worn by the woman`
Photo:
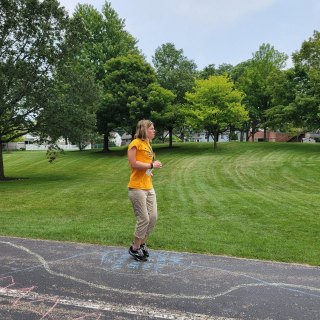
[[[157,222],[156,193],[154,189],[141,190],[129,188],[129,198],[137,219],[134,236],[144,240],[151,233]]]

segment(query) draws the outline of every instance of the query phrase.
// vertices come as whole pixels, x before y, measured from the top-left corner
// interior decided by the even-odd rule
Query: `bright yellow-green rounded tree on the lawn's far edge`
[[[235,89],[229,77],[211,76],[196,80],[193,91],[186,94],[190,103],[186,113],[194,126],[202,127],[213,135],[216,149],[220,133],[248,119],[243,98],[244,94]]]

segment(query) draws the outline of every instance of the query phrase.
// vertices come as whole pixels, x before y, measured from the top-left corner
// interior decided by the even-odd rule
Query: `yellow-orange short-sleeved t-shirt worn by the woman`
[[[150,144],[141,139],[134,139],[128,146],[128,150],[133,147],[137,148],[136,160],[151,163],[153,160],[153,151]],[[133,189],[143,189],[150,190],[152,186],[152,177],[151,175],[146,174],[146,169],[134,169],[131,167],[130,181],[128,184],[129,188]]]

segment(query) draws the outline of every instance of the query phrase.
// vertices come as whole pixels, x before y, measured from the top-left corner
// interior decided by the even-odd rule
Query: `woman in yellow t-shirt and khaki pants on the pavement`
[[[146,246],[157,222],[157,199],[152,185],[152,170],[162,168],[160,161],[154,161],[150,145],[155,136],[155,129],[150,120],[140,120],[137,124],[134,140],[128,147],[128,160],[131,167],[128,184],[129,198],[136,216],[134,241],[129,254],[138,261],[146,261],[149,252]]]

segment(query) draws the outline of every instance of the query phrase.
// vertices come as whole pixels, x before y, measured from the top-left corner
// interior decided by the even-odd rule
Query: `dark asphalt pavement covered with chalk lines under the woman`
[[[320,319],[320,268],[0,237],[1,320]]]

